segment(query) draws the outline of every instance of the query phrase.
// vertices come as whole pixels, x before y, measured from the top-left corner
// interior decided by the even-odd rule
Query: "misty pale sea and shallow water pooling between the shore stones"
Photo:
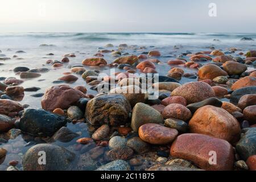
[[[114,44],[113,48],[106,49],[117,49],[118,45],[121,43],[127,43],[130,45],[137,45],[135,48],[127,48],[123,53],[129,53],[134,55],[139,55],[144,51],[150,51],[151,49],[158,49],[162,56],[159,57],[159,60],[164,64],[156,65],[156,70],[159,72],[159,75],[166,75],[170,70],[170,65],[167,64],[167,61],[170,59],[175,59],[178,55],[185,51],[190,52],[200,52],[207,51],[209,47],[214,46],[216,49],[222,49],[224,52],[228,51],[228,48],[236,47],[241,49],[241,51],[236,51],[232,53],[232,56],[238,56],[239,52],[246,52],[249,49],[255,49],[255,42],[242,42],[240,39],[242,37],[250,37],[256,40],[256,34],[83,34],[83,33],[20,33],[20,34],[0,34],[0,54],[5,54],[6,57],[11,57],[10,60],[2,61],[3,65],[0,65],[0,77],[16,77],[13,69],[18,66],[25,66],[28,68],[48,68],[50,69],[47,73],[41,73],[42,76],[32,79],[24,79],[23,86],[24,88],[36,86],[41,89],[37,92],[25,92],[25,96],[21,104],[30,105],[29,108],[40,108],[41,98],[31,97],[31,94],[35,93],[44,93],[45,90],[53,84],[52,81],[57,80],[57,78],[63,76],[64,72],[69,72],[70,67],[74,65],[81,65],[81,61],[87,57],[93,57],[93,55],[100,48],[108,43]],[[220,40],[219,42],[213,41],[213,39]],[[53,44],[55,46],[42,47],[40,44]],[[138,47],[146,48],[139,49]],[[154,46],[154,47],[151,47]],[[174,47],[176,46],[176,47]],[[105,48],[104,48],[105,49]],[[16,51],[25,51],[26,53],[15,53]],[[47,56],[48,53],[54,53],[53,56]],[[66,53],[75,53],[76,57],[70,57],[69,63],[65,64],[63,68],[52,68],[51,65],[47,65],[46,61],[48,59],[52,60],[61,60],[62,56]],[[18,55],[22,57],[23,60],[17,60],[13,58],[13,55]],[[112,63],[115,57],[112,57],[110,53],[106,53],[104,59],[108,63]],[[201,64],[205,64],[201,63]],[[207,62],[209,63],[209,62]],[[179,66],[176,66],[179,67]],[[197,72],[197,69],[188,69],[182,67],[185,73]],[[109,73],[109,67],[100,68],[100,67],[85,67],[85,69],[99,69],[101,72]],[[122,71],[115,68],[115,71]],[[77,76],[77,75],[76,75]],[[90,86],[86,85],[86,82],[79,77],[79,80],[69,84],[70,86],[84,85],[88,89],[89,94],[97,94],[96,91],[90,90]],[[42,81],[39,81],[42,80]],[[183,84],[189,81],[196,81],[188,78],[182,78],[180,83]],[[81,137],[90,137],[88,126],[85,123],[68,123],[68,128],[74,132],[81,132]],[[67,148],[72,148],[76,144],[76,139],[73,139],[71,142],[62,143],[55,142],[55,144],[64,146]],[[10,160],[18,160],[18,168],[22,169],[21,159],[22,155],[30,148],[31,146],[25,146],[27,142],[31,139],[26,135],[19,135],[14,140],[9,140],[6,144],[0,144],[0,147],[6,148],[8,151],[4,162],[0,165],[0,170],[5,170],[9,165]],[[33,139],[34,140],[34,139]],[[43,142],[42,140],[36,139],[35,143]],[[79,155],[77,153],[77,155]],[[76,169],[76,167],[74,167]]]

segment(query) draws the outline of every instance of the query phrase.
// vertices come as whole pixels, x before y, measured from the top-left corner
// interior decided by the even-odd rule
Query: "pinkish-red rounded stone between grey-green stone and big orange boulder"
[[[191,111],[181,104],[170,104],[163,110],[163,118],[175,118],[188,121],[191,118]]]

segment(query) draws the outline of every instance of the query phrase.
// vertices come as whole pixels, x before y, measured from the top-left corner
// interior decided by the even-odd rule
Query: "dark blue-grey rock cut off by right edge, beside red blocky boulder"
[[[251,155],[256,155],[256,127],[248,129],[236,145],[240,158],[246,160]]]

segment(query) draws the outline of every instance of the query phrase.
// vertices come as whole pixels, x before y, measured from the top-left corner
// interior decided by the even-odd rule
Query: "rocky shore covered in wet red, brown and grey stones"
[[[161,61],[154,47],[107,44],[80,65],[76,53],[62,56],[1,77],[1,170],[256,170],[256,50]],[[23,86],[62,69],[45,92]],[[39,109],[20,103],[26,94]]]

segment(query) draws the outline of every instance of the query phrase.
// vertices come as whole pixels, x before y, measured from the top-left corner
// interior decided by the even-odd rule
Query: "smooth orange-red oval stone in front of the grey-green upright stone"
[[[178,131],[155,123],[147,123],[139,127],[139,138],[151,144],[171,143]]]

